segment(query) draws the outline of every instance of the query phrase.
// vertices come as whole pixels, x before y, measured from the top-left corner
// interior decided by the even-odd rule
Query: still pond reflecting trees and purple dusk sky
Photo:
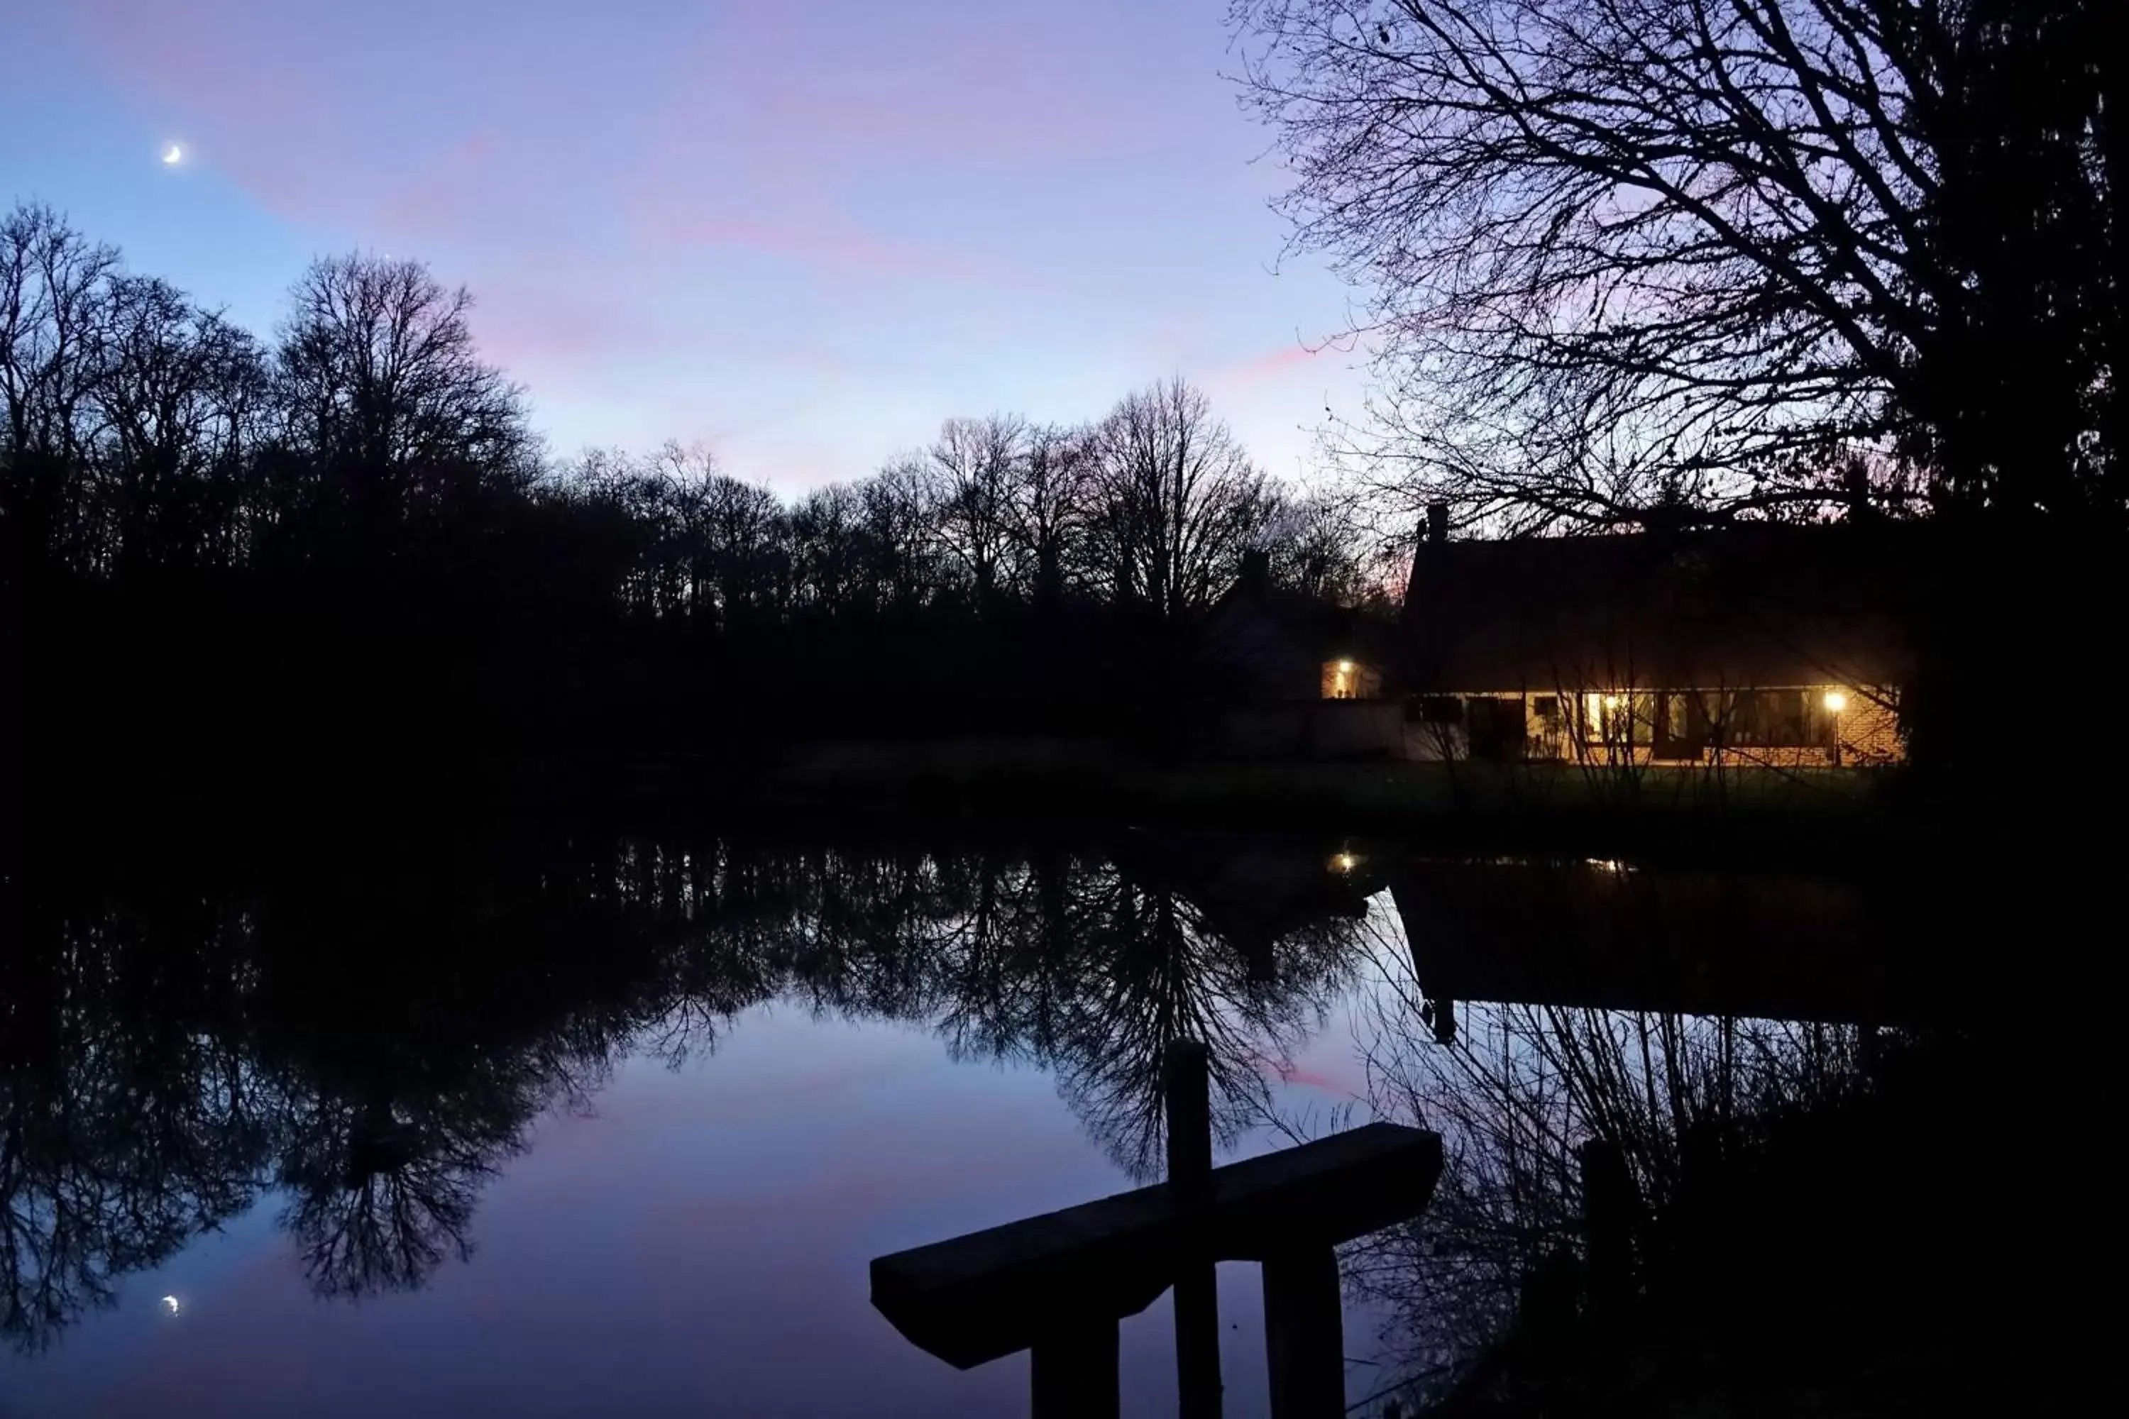
[[[6,953],[0,1413],[1018,1415],[1026,1355],[918,1351],[867,1264],[1158,1181],[1175,1038],[1220,1162],[1369,1117],[1450,1140],[1433,1232],[1348,1255],[1358,1404],[1499,1336],[1605,1111],[1669,1136],[1680,1089],[1865,1068],[1920,1008],[1886,911],[1211,832],[100,859]],[[1220,1321],[1226,1413],[1265,1413],[1256,1268]],[[1124,1413],[1175,1413],[1167,1300],[1120,1345]]]

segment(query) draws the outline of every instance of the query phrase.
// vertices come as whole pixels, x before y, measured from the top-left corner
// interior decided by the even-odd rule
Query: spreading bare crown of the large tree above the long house
[[[1294,240],[1373,289],[1339,447],[1509,528],[2118,511],[2101,9],[1235,0]]]

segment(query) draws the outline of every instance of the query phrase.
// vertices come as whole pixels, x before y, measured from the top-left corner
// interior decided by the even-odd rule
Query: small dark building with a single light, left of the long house
[[[1196,638],[1220,700],[1220,751],[1239,757],[1399,757],[1403,706],[1386,696],[1397,625],[1273,585],[1262,551],[1214,602]]]

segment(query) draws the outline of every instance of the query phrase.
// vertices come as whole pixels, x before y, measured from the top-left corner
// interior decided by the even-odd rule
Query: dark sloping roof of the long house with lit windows
[[[1426,542],[1405,594],[1416,691],[1897,685],[1914,523]]]

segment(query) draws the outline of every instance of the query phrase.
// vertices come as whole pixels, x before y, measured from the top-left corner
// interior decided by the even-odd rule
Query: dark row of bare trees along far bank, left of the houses
[[[0,536],[28,691],[66,696],[47,730],[686,747],[858,685],[875,719],[1011,719],[1141,696],[1252,551],[1297,591],[1375,594],[1339,506],[1179,377],[1079,425],[947,419],[786,500],[705,447],[551,455],[471,308],[353,253],[260,336],[49,206],[9,213]]]

